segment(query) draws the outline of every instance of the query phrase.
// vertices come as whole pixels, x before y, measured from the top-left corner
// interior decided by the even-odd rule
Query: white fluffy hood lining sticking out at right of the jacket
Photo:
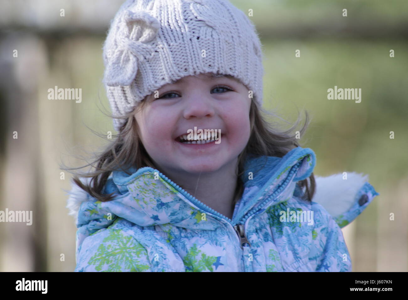
[[[322,205],[331,216],[337,217],[353,206],[357,192],[368,181],[368,175],[347,172],[346,180],[342,173],[316,176],[315,179],[316,192],[312,201]]]

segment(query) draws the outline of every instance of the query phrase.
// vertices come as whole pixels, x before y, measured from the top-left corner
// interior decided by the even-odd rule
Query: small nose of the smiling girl
[[[185,102],[185,107],[183,111],[184,118],[204,118],[212,117],[215,114],[214,101],[209,96],[204,96],[202,93],[194,93],[188,97]]]

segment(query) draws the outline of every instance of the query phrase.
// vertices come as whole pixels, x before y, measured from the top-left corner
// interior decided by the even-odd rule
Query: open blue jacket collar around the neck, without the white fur
[[[244,193],[232,220],[188,194],[160,171],[143,167],[129,168],[131,175],[113,171],[105,192],[119,195],[109,202],[96,201],[81,207],[78,222],[89,221],[91,213],[106,219],[111,213],[143,227],[171,223],[191,229],[215,229],[222,225],[220,220],[242,224],[252,214],[290,198],[295,183],[312,173],[315,154],[311,149],[297,147],[282,158],[248,157],[244,166]]]

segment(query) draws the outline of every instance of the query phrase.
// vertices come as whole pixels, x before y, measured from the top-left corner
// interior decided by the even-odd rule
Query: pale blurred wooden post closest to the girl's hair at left
[[[52,69],[43,74],[38,93],[40,111],[41,143],[40,153],[42,162],[42,178],[44,178],[44,199],[47,203],[47,269],[48,271],[72,272],[75,267],[75,236],[69,234],[75,230],[75,222],[68,216],[67,198],[63,189],[70,190],[70,173],[61,170],[60,159],[66,152],[63,148],[65,143],[72,144],[74,139],[73,130],[73,107],[80,105],[75,100],[48,99],[49,89],[71,89],[71,63],[75,58],[71,57],[70,44],[75,39],[46,39],[47,56],[53,57]],[[64,94],[65,97],[65,94]],[[65,162],[67,163],[67,162]],[[70,166],[71,167],[71,166]],[[61,174],[63,172],[63,174]]]

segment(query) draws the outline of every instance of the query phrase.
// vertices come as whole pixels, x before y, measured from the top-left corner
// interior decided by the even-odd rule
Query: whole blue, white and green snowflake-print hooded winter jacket
[[[348,173],[317,177],[312,202],[302,200],[297,182],[315,162],[301,147],[248,156],[232,220],[150,167],[113,171],[108,202],[73,185],[75,271],[351,271],[340,228],[379,194],[367,176]]]

